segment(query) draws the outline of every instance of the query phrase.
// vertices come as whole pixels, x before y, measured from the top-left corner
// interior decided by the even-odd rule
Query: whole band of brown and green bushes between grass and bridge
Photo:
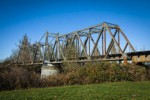
[[[0,90],[147,80],[145,67],[133,64],[123,65],[109,62],[63,63],[62,71],[58,75],[41,78],[39,74],[29,68],[0,67]]]

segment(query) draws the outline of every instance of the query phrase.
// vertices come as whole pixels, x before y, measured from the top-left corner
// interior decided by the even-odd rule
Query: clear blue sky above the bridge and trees
[[[0,0],[0,59],[26,33],[31,43],[102,22],[120,25],[135,49],[150,50],[149,0]]]

